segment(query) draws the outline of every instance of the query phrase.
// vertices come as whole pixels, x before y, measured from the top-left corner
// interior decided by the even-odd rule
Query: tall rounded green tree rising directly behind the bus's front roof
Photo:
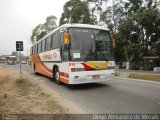
[[[86,1],[70,0],[65,3],[59,24],[84,23],[93,24]]]

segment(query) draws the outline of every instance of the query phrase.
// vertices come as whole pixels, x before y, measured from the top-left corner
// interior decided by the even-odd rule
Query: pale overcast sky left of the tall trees
[[[0,0],[0,55],[16,51],[16,41],[23,41],[24,55],[29,55],[32,30],[57,17],[57,25],[68,0]],[[28,52],[27,52],[28,51]]]

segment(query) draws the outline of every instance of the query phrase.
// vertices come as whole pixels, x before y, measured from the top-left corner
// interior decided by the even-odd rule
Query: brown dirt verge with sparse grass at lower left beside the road
[[[29,78],[0,67],[0,113],[64,114],[66,109]]]

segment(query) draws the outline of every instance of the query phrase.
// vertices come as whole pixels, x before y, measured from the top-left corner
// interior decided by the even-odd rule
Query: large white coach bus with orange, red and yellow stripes
[[[113,77],[113,51],[107,28],[65,24],[31,47],[30,65],[58,84],[101,82]]]

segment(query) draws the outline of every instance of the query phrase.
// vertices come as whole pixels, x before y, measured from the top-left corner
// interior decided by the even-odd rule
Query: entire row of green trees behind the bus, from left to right
[[[50,22],[50,19],[53,21]],[[55,20],[51,16],[46,23],[39,24],[33,30],[31,41],[37,41],[51,31],[56,26]],[[116,61],[138,61],[143,56],[160,56],[158,0],[69,0],[63,7],[59,23],[107,26],[116,38]]]

